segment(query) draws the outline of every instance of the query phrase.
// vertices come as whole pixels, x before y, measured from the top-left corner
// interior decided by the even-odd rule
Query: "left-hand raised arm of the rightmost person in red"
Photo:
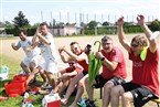
[[[129,42],[125,38],[125,32],[124,32],[124,28],[122,28],[124,17],[119,18],[117,22],[118,22],[118,39],[119,39],[119,42],[128,52],[130,52],[130,45],[129,45]]]

